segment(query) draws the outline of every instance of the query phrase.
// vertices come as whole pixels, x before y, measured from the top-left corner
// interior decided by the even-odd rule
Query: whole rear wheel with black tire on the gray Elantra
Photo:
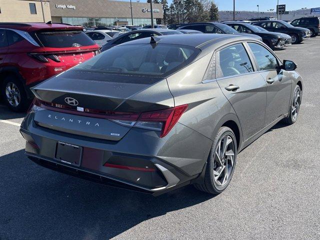
[[[229,142],[230,140],[232,141]],[[216,152],[218,152],[220,156],[224,157],[224,154],[220,154],[223,152],[223,149],[221,149],[221,146],[223,146],[224,141],[225,143],[229,142],[226,145],[226,148],[225,148],[226,150],[224,151],[224,153],[228,154],[225,157],[228,157],[229,159],[217,157]],[[233,151],[233,156],[230,150]],[[232,178],[235,164],[236,164],[236,155],[237,155],[237,144],[236,144],[236,138],[233,131],[226,126],[220,127],[218,132],[216,133],[216,136],[214,137],[214,140],[211,146],[211,150],[207,159],[203,182],[194,183],[195,188],[211,194],[221,193],[229,185],[229,182]],[[233,159],[233,163],[232,163],[232,159]],[[218,162],[220,163],[222,162],[222,163],[220,164]],[[227,167],[224,166],[223,168],[222,165],[226,165]],[[220,174],[218,174],[219,169],[222,169],[220,171]],[[226,173],[226,178],[225,178],[225,173]],[[222,176],[221,174],[224,174],[224,176]],[[220,181],[222,181],[221,185],[219,184]]]

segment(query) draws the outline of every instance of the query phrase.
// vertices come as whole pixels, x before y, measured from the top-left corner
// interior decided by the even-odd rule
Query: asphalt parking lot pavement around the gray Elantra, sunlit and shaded
[[[0,105],[0,240],[319,239],[320,36],[276,54],[303,77],[298,120],[241,151],[217,196],[189,185],[153,197],[38,166],[23,152],[23,114]]]

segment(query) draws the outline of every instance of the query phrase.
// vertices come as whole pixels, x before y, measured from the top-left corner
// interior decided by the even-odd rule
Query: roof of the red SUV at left
[[[64,23],[44,23],[44,22],[0,22],[0,27],[11,28],[23,31],[36,31],[42,29],[77,29],[82,30],[83,26],[73,26],[70,24]]]

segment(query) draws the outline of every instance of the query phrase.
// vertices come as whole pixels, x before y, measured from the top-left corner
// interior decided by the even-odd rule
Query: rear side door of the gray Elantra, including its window
[[[243,140],[264,127],[266,83],[255,68],[243,43],[216,52],[217,82],[234,108]]]

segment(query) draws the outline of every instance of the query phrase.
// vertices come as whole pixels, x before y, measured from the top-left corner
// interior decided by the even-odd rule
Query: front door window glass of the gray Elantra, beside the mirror
[[[260,70],[276,69],[278,67],[275,56],[266,48],[257,43],[248,43]]]

